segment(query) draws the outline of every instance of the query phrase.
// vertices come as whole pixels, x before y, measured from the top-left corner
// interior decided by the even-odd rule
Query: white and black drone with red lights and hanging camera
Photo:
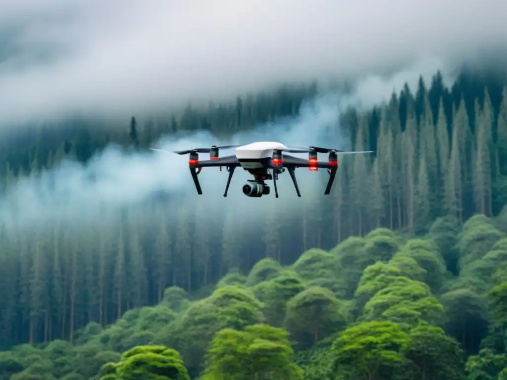
[[[227,148],[236,148],[236,154],[219,157],[219,150]],[[150,149],[168,152],[164,149]],[[252,198],[260,198],[263,195],[269,195],[270,187],[266,184],[266,180],[273,180],[275,197],[278,198],[276,181],[278,175],[285,172],[285,169],[288,171],[289,175],[291,175],[298,197],[301,197],[301,192],[299,191],[298,181],[296,180],[296,168],[308,168],[308,170],[314,172],[318,171],[319,168],[327,169],[330,177],[324,195],[328,195],[331,192],[331,186],[333,185],[338,169],[338,154],[366,154],[373,153],[373,150],[344,151],[317,146],[309,146],[306,148],[287,147],[279,142],[259,141],[247,145],[212,145],[210,148],[179,150],[172,153],[189,155],[190,173],[192,174],[192,179],[194,180],[197,194],[199,195],[202,195],[202,189],[198,175],[202,168],[220,167],[220,171],[222,171],[222,167],[226,167],[227,172],[229,172],[229,177],[227,178],[224,197],[227,197],[234,170],[238,167],[242,167],[253,175],[253,179],[248,180],[242,187],[244,195]],[[209,160],[199,160],[199,153],[209,153]],[[308,160],[284,153],[308,153]],[[318,161],[318,153],[328,153],[328,161]]]

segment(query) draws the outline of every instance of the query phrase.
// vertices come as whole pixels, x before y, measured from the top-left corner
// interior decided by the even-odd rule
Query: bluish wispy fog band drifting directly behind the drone
[[[433,62],[434,63],[434,62]],[[427,65],[427,68],[431,65]],[[434,68],[434,67],[433,67]],[[350,149],[350,136],[339,124],[341,112],[348,106],[368,106],[389,98],[393,88],[404,83],[415,87],[420,66],[407,67],[389,78],[365,77],[357,82],[356,91],[348,94],[322,92],[303,103],[295,117],[287,117],[257,126],[253,130],[238,132],[227,139],[217,139],[208,132],[198,132],[186,137],[166,136],[155,146],[168,151],[192,147],[247,144],[255,141],[280,141],[288,146],[325,146]],[[433,69],[423,76],[429,80]],[[446,78],[452,81],[452,77]],[[234,149],[222,149],[221,156],[234,155]],[[298,157],[307,157],[306,154]],[[319,155],[327,160],[327,155]],[[200,159],[209,159],[201,154]],[[340,162],[343,156],[339,157]],[[339,170],[343,170],[340,168]],[[324,196],[324,186],[329,175],[325,170],[317,173],[300,168],[296,171],[302,198],[298,198],[288,173],[280,175],[275,199],[272,181],[271,195],[248,198],[241,193],[241,186],[251,176],[241,168],[235,171],[229,195],[223,197],[228,173],[219,168],[203,168],[199,174],[203,195],[194,187],[188,168],[188,156],[142,151],[126,152],[117,146],[108,146],[95,155],[88,164],[64,161],[49,171],[32,174],[21,179],[0,198],[0,219],[7,225],[33,225],[65,218],[67,221],[96,219],[99,223],[105,209],[118,209],[149,201],[163,194],[172,200],[167,213],[184,210],[190,215],[199,209],[204,215],[219,212],[222,217],[229,211],[238,220],[248,215],[250,221],[261,222],[266,213],[274,212],[287,218],[300,217],[301,206],[315,202],[333,203],[333,195]],[[339,183],[335,181],[333,188]],[[333,194],[333,193],[332,193]],[[312,206],[313,207],[313,206]],[[148,211],[147,211],[148,212]],[[220,225],[219,228],[222,228]],[[242,230],[240,224],[237,229]]]

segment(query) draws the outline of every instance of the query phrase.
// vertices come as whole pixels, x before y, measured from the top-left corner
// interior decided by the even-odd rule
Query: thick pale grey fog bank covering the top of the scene
[[[452,70],[504,47],[505,14],[497,0],[0,2],[0,125],[125,117],[417,65]]]

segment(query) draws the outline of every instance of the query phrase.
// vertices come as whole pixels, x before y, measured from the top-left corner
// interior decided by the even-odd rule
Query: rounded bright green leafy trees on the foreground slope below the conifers
[[[375,229],[292,265],[264,258],[200,299],[170,286],[72,342],[0,353],[0,378],[503,379],[505,211],[442,217],[420,237]]]

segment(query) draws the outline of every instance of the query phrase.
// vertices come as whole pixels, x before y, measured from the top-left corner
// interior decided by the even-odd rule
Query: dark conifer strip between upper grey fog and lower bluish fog
[[[248,94],[235,102],[207,107],[188,105],[170,115],[133,117],[123,121],[76,116],[40,125],[5,126],[1,132],[0,176],[11,170],[28,175],[32,170],[52,167],[62,158],[87,162],[94,153],[114,142],[147,148],[164,134],[209,131],[227,136],[238,130],[294,116],[301,103],[316,94],[316,85],[286,86],[274,93]],[[6,164],[9,164],[7,167]]]

